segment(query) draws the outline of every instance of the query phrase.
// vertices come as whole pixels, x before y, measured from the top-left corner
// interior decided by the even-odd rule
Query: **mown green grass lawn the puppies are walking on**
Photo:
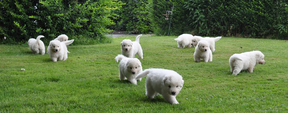
[[[173,38],[141,37],[140,61],[143,69],[171,69],[183,76],[179,105],[161,96],[147,99],[146,77],[138,86],[119,80],[114,58],[125,38],[115,38],[110,44],[68,46],[68,59],[57,62],[48,54],[32,54],[28,45],[0,45],[0,112],[288,111],[284,40],[223,37],[216,42],[213,62],[195,63],[194,48],[178,49]],[[266,63],[256,65],[253,73],[232,75],[229,57],[252,50],[262,51]]]

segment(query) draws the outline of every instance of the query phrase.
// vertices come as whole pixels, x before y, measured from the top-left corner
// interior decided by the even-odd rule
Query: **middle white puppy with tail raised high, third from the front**
[[[135,54],[137,53],[137,55],[141,59],[143,59],[143,51],[142,51],[142,48],[141,48],[140,43],[139,43],[139,39],[141,36],[142,36],[142,34],[138,35],[134,42],[132,42],[130,39],[124,39],[121,42],[122,55],[127,56],[129,58],[134,58]]]

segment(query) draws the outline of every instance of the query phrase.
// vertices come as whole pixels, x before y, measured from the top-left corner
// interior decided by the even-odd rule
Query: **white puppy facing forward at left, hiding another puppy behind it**
[[[68,58],[67,46],[72,44],[73,42],[74,39],[63,42],[60,42],[59,40],[50,41],[50,44],[47,48],[50,59],[53,62],[56,62],[57,60],[65,61]]]

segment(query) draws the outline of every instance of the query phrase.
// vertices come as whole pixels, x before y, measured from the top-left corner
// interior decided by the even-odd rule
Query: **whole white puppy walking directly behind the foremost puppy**
[[[137,85],[136,75],[142,72],[142,65],[137,58],[127,58],[124,55],[118,55],[115,57],[116,62],[119,60],[119,78],[120,80],[127,80],[132,84]],[[139,79],[141,81],[141,78]]]

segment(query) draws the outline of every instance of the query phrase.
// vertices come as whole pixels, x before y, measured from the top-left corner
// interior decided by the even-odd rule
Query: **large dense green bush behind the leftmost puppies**
[[[1,1],[0,41],[23,43],[44,35],[47,44],[61,34],[74,38],[74,44],[109,41],[104,35],[119,7],[115,0]]]

